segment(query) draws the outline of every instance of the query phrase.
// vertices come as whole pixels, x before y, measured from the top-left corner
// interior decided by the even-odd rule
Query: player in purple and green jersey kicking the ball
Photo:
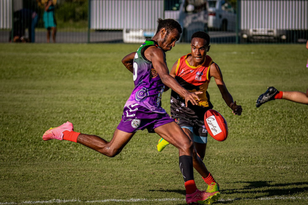
[[[161,108],[161,95],[165,85],[197,104],[197,94],[184,89],[170,74],[165,52],[175,46],[182,29],[173,19],[158,19],[156,34],[147,39],[137,50],[125,56],[122,63],[133,73],[135,88],[124,105],[122,120],[115,129],[110,142],[95,135],[74,132],[73,124],[66,122],[43,134],[43,140],[69,140],[83,144],[103,155],[114,157],[138,130],[156,132],[179,150],[180,171],[184,178],[187,203],[212,203],[220,197],[219,192],[199,191],[193,176],[193,157],[198,157],[193,142],[178,124]],[[201,166],[201,165],[200,165]],[[200,167],[202,169],[202,166]]]

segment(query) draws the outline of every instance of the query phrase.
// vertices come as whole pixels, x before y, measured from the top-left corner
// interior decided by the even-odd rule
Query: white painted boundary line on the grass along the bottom
[[[237,201],[237,200],[295,200],[304,199],[308,200],[308,197],[299,196],[273,196],[273,197],[261,197],[256,199],[248,198],[234,198],[234,199],[219,199],[217,202],[224,201]],[[103,200],[92,200],[82,201],[80,199],[51,199],[46,201],[23,201],[23,202],[0,202],[0,205],[4,204],[48,204],[48,203],[68,203],[68,202],[82,202],[82,203],[106,203],[106,202],[154,202],[154,201],[185,201],[185,199],[169,198],[169,199],[103,199]]]

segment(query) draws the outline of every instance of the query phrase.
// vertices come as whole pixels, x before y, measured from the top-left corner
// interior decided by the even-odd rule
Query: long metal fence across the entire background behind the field
[[[197,30],[212,43],[308,38],[308,0],[0,0],[0,42],[139,43],[158,18],[177,20],[182,42]]]

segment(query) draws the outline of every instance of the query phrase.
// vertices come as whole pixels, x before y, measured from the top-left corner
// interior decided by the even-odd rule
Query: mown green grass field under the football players
[[[43,141],[50,127],[110,140],[133,89],[121,64],[136,44],[0,44],[1,204],[186,204],[176,148],[139,131],[108,158],[69,141]],[[167,52],[169,68],[188,44]],[[233,116],[215,81],[214,109],[227,120],[224,142],[209,137],[205,164],[221,187],[216,204],[308,203],[308,107],[276,100],[255,107],[275,86],[306,92],[305,45],[220,45],[208,53],[242,116]],[[163,95],[169,112],[170,91]],[[197,187],[207,185],[195,172]]]

